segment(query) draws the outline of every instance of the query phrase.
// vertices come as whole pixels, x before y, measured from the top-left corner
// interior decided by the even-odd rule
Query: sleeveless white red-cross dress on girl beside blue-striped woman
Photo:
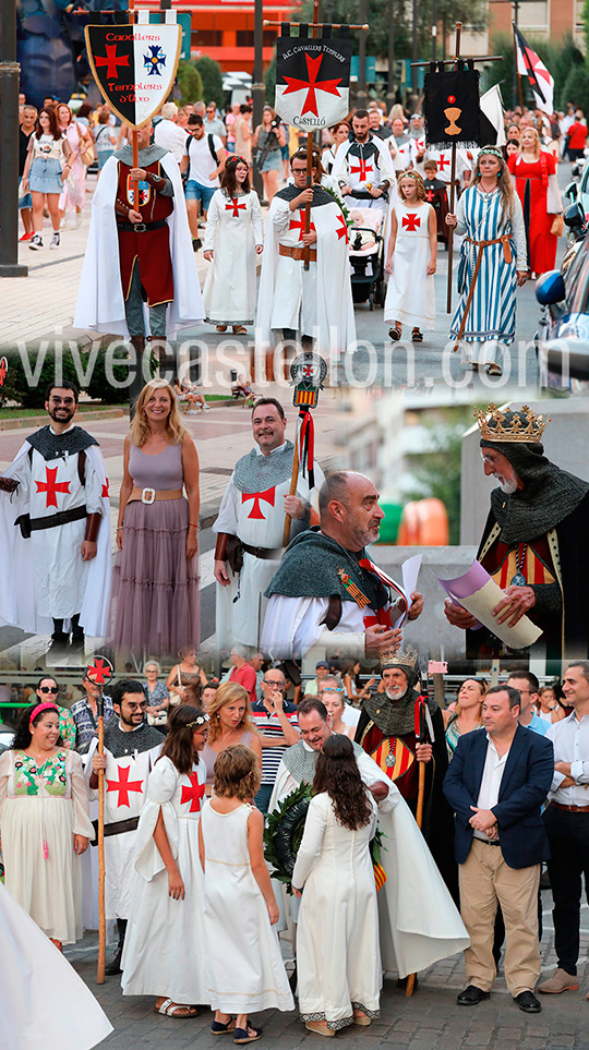
[[[388,278],[384,319],[432,331],[435,328],[435,288],[430,264],[429,218],[431,204],[418,207],[397,201],[397,237],[393,251],[393,273]]]

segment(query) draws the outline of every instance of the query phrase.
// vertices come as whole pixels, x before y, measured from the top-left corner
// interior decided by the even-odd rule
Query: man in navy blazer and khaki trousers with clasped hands
[[[460,910],[471,941],[465,952],[468,985],[457,1002],[470,1006],[489,999],[498,902],[507,987],[520,1010],[539,1013],[538,886],[541,861],[550,855],[540,808],[554,753],[550,740],[518,724],[519,704],[510,686],[489,690],[484,729],[460,737],[444,781],[455,811]]]

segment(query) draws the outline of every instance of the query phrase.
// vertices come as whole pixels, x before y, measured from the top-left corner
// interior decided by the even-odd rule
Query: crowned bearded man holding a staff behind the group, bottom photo
[[[399,651],[383,663],[384,690],[362,700],[356,740],[417,811],[419,763],[425,764],[422,831],[448,890],[457,900],[454,817],[442,792],[448,768],[442,711],[419,691],[418,653]],[[426,741],[420,743],[416,705],[424,701]],[[418,708],[419,711],[419,708]],[[418,723],[418,724],[416,724]]]

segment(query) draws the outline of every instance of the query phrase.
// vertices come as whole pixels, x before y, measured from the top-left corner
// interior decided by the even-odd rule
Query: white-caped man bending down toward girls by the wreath
[[[298,721],[302,740],[285,751],[269,813],[301,782],[313,783],[318,752],[332,735],[321,700],[302,700]],[[468,934],[407,804],[358,744],[353,751],[360,776],[378,805],[384,836],[386,882],[378,893],[383,968],[404,978],[466,948]]]

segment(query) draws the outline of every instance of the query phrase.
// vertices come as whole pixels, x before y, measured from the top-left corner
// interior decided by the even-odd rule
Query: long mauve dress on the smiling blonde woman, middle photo
[[[182,488],[182,447],[148,456],[131,445],[129,470],[139,488]],[[173,656],[201,641],[199,557],[187,562],[189,505],[180,499],[128,503],[123,548],[113,582],[113,642],[122,653]]]

